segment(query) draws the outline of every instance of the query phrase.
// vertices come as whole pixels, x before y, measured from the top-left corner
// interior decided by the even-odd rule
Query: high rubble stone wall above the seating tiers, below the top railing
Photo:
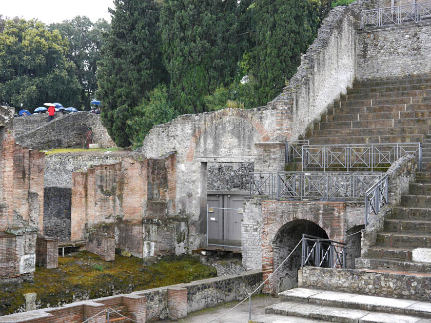
[[[429,75],[430,39],[429,21],[359,30],[357,80]]]

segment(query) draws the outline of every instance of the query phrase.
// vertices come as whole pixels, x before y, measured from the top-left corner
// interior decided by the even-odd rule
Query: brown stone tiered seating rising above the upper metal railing
[[[306,138],[310,145],[425,142],[430,107],[431,78],[355,83]]]

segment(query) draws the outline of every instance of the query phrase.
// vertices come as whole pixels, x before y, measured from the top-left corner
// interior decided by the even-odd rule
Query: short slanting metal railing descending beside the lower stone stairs
[[[389,203],[389,179],[387,174],[365,193],[365,229],[367,225]]]

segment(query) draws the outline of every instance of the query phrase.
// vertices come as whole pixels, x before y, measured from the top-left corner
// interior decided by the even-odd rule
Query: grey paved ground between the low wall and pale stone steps
[[[280,298],[268,296],[268,295],[257,295],[251,298],[251,319],[255,319],[257,316],[264,314],[265,307],[280,302]],[[181,323],[206,323],[219,315],[222,315],[232,307],[236,306],[239,301],[230,302],[224,305],[220,305],[215,308],[205,309],[197,312],[190,313],[184,319],[178,320]],[[172,323],[171,320],[157,321],[159,323]],[[248,322],[248,300],[243,302],[239,307],[226,314],[225,316],[213,321],[214,323],[233,323],[233,322]]]

